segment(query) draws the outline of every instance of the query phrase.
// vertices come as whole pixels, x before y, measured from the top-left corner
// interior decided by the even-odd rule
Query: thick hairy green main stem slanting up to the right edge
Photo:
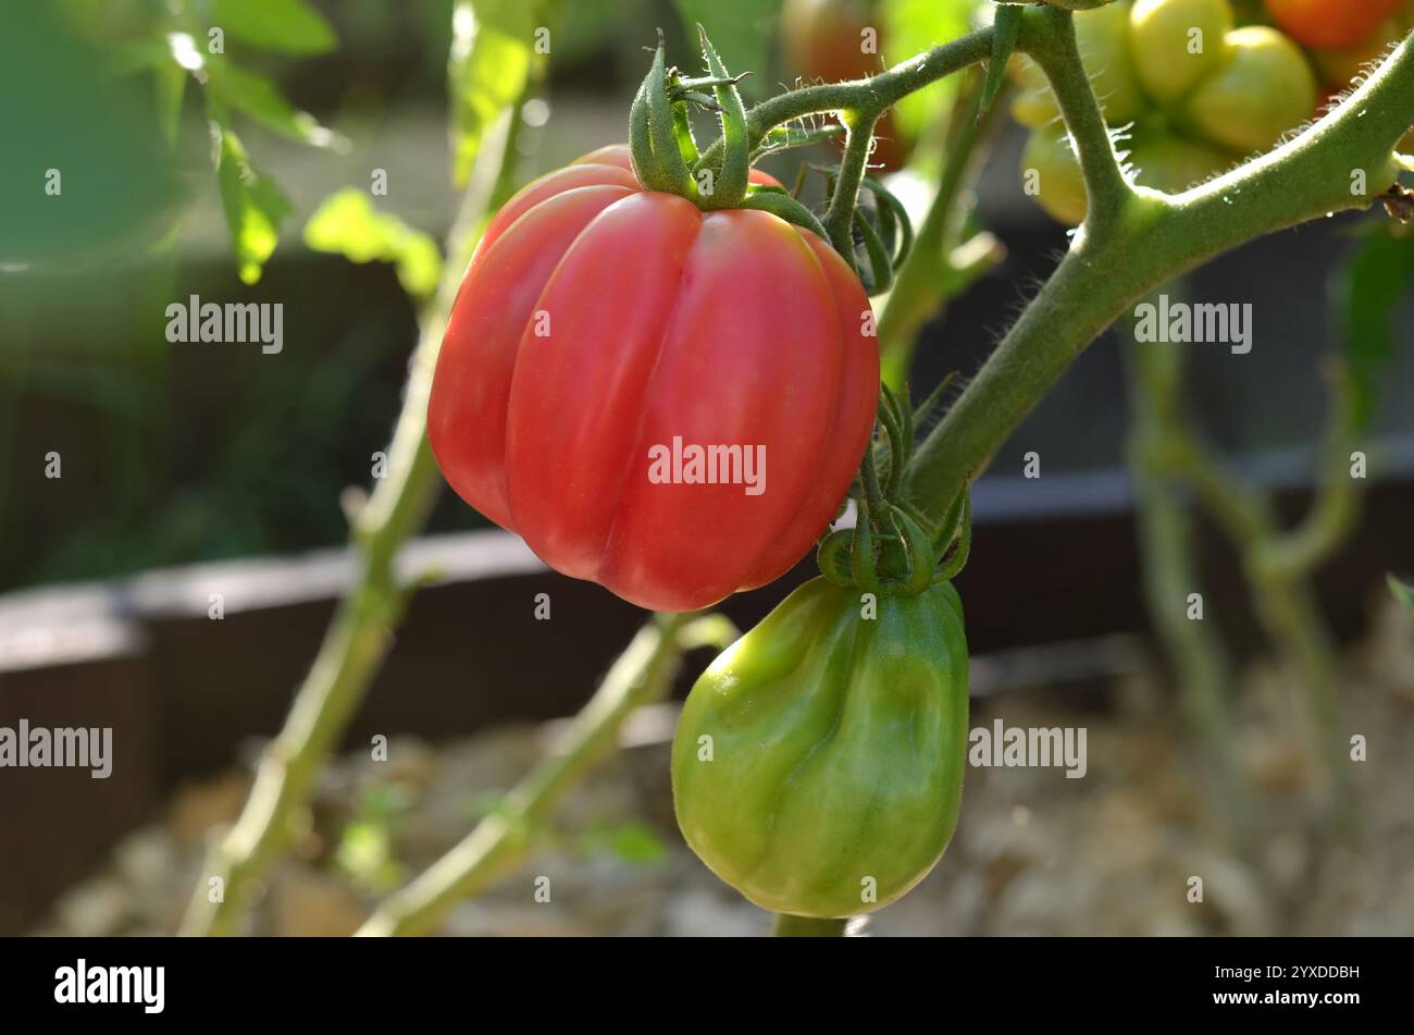
[[[1024,42],[1031,25],[1024,25]],[[1086,82],[1058,78],[1052,85],[1068,117],[1086,107],[1066,96],[1089,93]],[[1367,208],[1384,194],[1411,107],[1414,44],[1406,40],[1345,103],[1270,154],[1175,197],[1131,188],[1117,216],[1096,216],[1104,202],[1092,202],[1087,219],[1102,219],[1106,233],[1076,235],[1051,280],[919,447],[913,489],[925,513],[939,520],[1070,362],[1148,291],[1253,238]],[[1366,192],[1353,194],[1362,180]]]

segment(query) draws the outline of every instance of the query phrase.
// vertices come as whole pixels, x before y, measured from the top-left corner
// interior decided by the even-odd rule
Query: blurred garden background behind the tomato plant
[[[479,16],[481,31],[496,30],[516,7],[58,0],[0,11],[0,725],[115,730],[107,780],[0,771],[11,846],[0,932],[177,926],[206,838],[239,812],[356,578],[349,486],[369,486],[387,448],[461,194],[451,171],[468,134],[448,122],[471,102],[455,82],[448,99],[454,24]],[[875,68],[990,17],[990,4],[963,0],[834,7],[846,49],[858,24],[881,27]],[[515,184],[625,139],[656,27],[687,64],[687,27],[704,23],[728,65],[752,72],[748,103],[831,75],[807,66],[816,30],[779,0],[546,10],[546,78],[525,99],[512,89]],[[221,51],[211,27],[223,28]],[[489,95],[515,61],[482,68]],[[959,89],[894,115],[877,157],[902,168],[889,182],[911,205],[928,204]],[[1066,246],[1066,228],[1021,189],[1024,140],[995,120],[964,192],[993,260],[922,328],[915,396],[974,372]],[[765,164],[792,184],[802,161],[829,160],[820,146]],[[1192,557],[1227,659],[1234,766],[1260,803],[1260,843],[1241,844],[1215,806],[1212,745],[1185,723],[1182,672],[1145,600],[1152,544],[1130,471],[1121,328],[978,484],[959,584],[974,725],[1086,727],[1089,773],[970,769],[953,847],[911,906],[874,920],[880,933],[1414,932],[1414,618],[1386,587],[1389,573],[1414,574],[1414,312],[1408,259],[1389,257],[1411,249],[1389,245],[1383,223],[1340,216],[1256,242],[1181,288],[1253,305],[1251,353],[1193,348],[1185,397],[1202,437],[1271,493],[1281,522],[1319,493],[1333,365],[1362,345],[1390,353],[1357,434],[1363,513],[1312,583],[1340,737],[1370,744],[1352,766],[1359,831],[1336,837],[1312,814],[1315,766],[1290,714],[1302,676],[1253,607],[1240,551],[1198,519]],[[173,344],[167,307],[191,296],[281,303],[283,348]],[[1027,476],[1032,452],[1039,478]],[[496,807],[643,618],[546,573],[445,492],[400,570],[431,573],[428,588],[263,885],[263,933],[356,928]],[[745,628],[812,571],[807,561],[724,609]],[[551,594],[553,621],[534,619],[539,592]],[[679,694],[708,659],[687,656]],[[554,877],[554,909],[532,902],[529,878],[508,878],[444,929],[764,930],[677,837],[672,724],[672,704],[639,713],[622,751],[542,831],[527,872]],[[390,762],[368,759],[375,735],[392,738]],[[1208,894],[1193,904],[1186,881],[1199,872]]]

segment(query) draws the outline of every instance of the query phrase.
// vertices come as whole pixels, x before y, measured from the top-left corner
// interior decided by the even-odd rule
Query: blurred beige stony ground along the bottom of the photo
[[[988,696],[971,724],[1083,725],[1089,769],[970,768],[957,836],[908,905],[872,916],[877,935],[1411,935],[1414,933],[1414,622],[1381,600],[1348,652],[1346,727],[1369,737],[1356,765],[1359,837],[1321,853],[1304,826],[1308,773],[1281,730],[1280,677],[1249,667],[1243,766],[1275,834],[1244,862],[1220,837],[1200,764],[1151,670],[1106,682],[1103,707],[1055,687]],[[667,744],[676,706],[641,711],[622,749],[560,807],[519,872],[461,904],[448,935],[762,935],[768,918],[683,846]],[[386,762],[345,754],[324,773],[296,850],[255,913],[266,935],[346,935],[376,898],[414,875],[495,807],[556,724],[501,725],[433,744],[395,737]],[[255,755],[247,745],[246,759]],[[230,821],[247,768],[188,780],[158,820],[66,892],[35,930],[170,933],[197,881],[208,830]],[[1188,901],[1200,875],[1203,902]],[[539,878],[550,901],[539,902]],[[540,887],[544,882],[540,881]],[[543,898],[543,895],[542,895]]]

